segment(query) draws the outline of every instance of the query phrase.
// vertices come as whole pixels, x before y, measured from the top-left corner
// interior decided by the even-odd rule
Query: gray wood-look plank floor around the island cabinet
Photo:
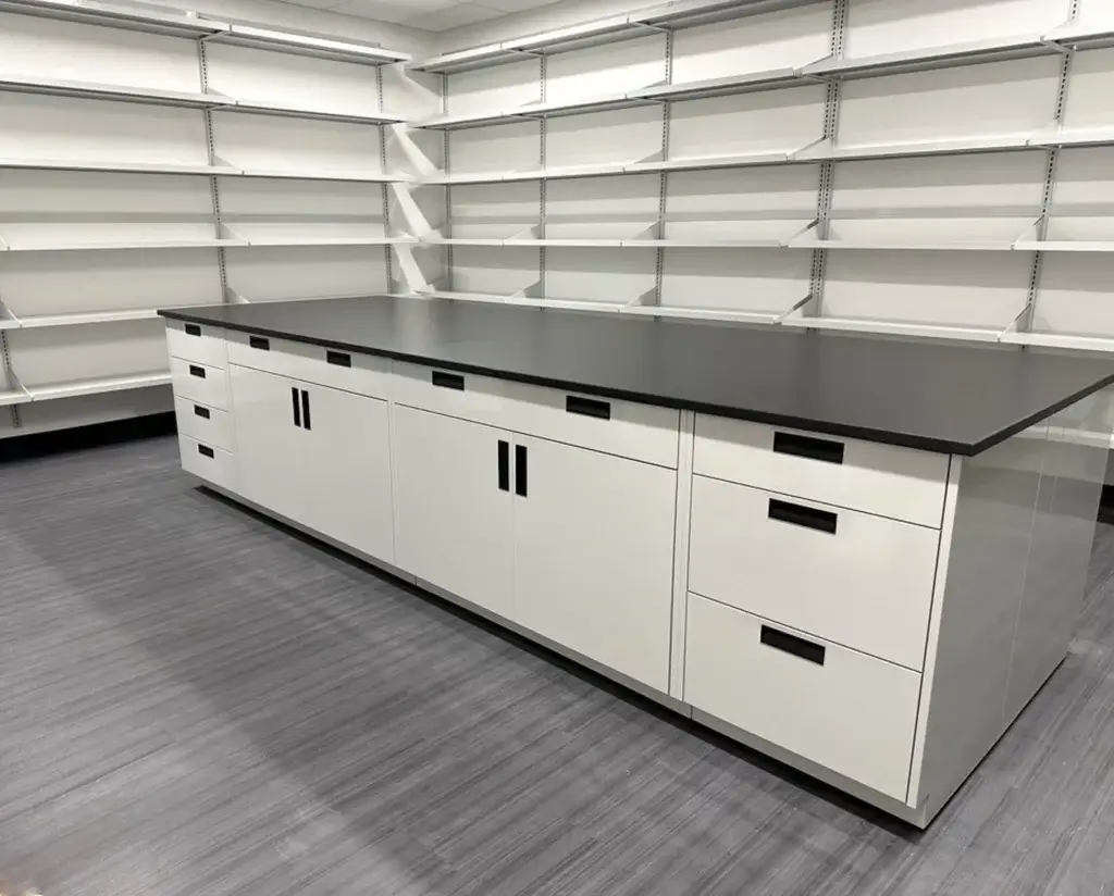
[[[927,833],[196,489],[0,464],[0,880],[43,896],[1114,894],[1114,529]]]

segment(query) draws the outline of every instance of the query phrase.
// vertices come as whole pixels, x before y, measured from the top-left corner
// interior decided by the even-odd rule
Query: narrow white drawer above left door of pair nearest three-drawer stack
[[[512,429],[509,383],[443,367],[427,367],[395,361],[394,401],[421,411]]]

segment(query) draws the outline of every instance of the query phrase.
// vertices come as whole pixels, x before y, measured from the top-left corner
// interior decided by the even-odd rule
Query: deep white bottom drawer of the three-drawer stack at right
[[[920,676],[688,595],[685,701],[906,800]]]

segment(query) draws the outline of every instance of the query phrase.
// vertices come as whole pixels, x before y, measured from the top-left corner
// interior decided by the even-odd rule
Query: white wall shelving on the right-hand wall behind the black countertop
[[[684,0],[411,68],[411,294],[1114,349],[1108,0]]]

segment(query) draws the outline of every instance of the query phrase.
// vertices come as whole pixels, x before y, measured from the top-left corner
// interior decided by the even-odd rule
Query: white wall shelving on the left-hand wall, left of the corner
[[[157,307],[390,289],[414,242],[389,167],[408,60],[152,4],[0,1],[0,437],[169,410]]]

